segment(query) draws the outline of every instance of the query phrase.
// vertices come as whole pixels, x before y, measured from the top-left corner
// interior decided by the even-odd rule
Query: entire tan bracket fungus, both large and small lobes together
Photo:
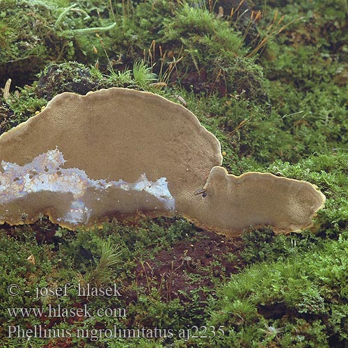
[[[47,214],[74,230],[139,212],[181,214],[233,236],[251,225],[306,228],[324,205],[308,182],[235,177],[221,164],[216,137],[164,97],[125,88],[62,93],[0,136],[0,223]]]

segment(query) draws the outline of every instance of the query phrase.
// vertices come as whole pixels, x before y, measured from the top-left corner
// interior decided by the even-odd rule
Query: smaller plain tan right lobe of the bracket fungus
[[[272,226],[276,233],[309,228],[325,202],[324,194],[309,182],[270,173],[229,175],[220,166],[212,168],[204,188],[204,204],[187,216],[229,237],[251,226]]]

